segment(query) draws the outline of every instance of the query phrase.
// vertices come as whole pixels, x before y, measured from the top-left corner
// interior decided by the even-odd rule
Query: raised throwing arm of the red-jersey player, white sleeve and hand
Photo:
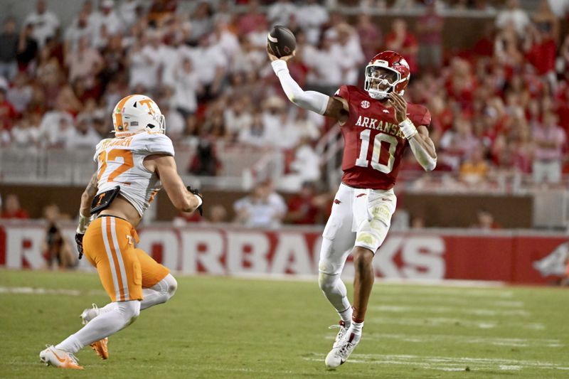
[[[341,123],[346,121],[348,118],[348,105],[344,99],[329,97],[328,95],[316,91],[304,91],[298,83],[294,81],[292,76],[290,76],[287,60],[294,57],[294,53],[277,58],[275,55],[272,55],[267,48],[267,54],[271,60],[272,70],[275,71],[275,74],[280,80],[282,90],[285,91],[285,94],[294,105],[304,108],[305,110],[312,110],[312,112],[332,117]]]

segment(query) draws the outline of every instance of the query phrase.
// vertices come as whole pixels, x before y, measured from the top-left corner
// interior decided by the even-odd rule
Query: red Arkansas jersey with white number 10
[[[342,182],[354,188],[393,188],[408,144],[395,122],[393,107],[383,106],[368,92],[353,85],[341,86],[334,96],[347,100],[350,112],[341,126],[344,136]],[[431,114],[427,108],[408,103],[407,112],[415,126],[429,126]]]

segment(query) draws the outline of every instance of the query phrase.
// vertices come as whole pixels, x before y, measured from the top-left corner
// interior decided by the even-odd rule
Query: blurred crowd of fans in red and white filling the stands
[[[174,142],[196,147],[193,174],[218,173],[215,146],[224,141],[282,149],[299,183],[317,180],[314,145],[333,125],[287,102],[270,70],[267,31],[282,24],[297,37],[289,68],[306,89],[361,85],[369,58],[402,53],[412,70],[405,97],[432,114],[439,170],[464,183],[496,170],[559,183],[569,171],[569,36],[560,33],[568,1],[538,3],[528,14],[517,0],[86,0],[62,25],[38,0],[23,21],[3,20],[0,145],[92,149],[110,137],[117,101],[144,93],[161,107]],[[390,18],[385,33],[369,9],[420,15],[413,28]],[[496,18],[474,48],[449,51],[448,9],[492,10]],[[404,169],[418,165],[410,158]]]

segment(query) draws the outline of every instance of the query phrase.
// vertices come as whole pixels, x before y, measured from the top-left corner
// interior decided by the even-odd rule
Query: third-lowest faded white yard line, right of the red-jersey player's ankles
[[[467,328],[477,328],[477,329],[494,329],[499,325],[499,321],[494,320],[462,320],[462,319],[452,319],[447,317],[424,317],[424,318],[388,318],[379,317],[371,319],[371,321],[377,322],[378,324],[388,324],[388,325],[408,325],[408,326],[466,326]],[[524,323],[516,321],[508,321],[507,326],[516,326],[522,329],[530,330],[543,330],[546,326],[540,323]]]

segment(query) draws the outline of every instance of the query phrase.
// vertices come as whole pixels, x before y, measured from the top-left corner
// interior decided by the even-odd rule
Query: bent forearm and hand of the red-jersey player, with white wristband
[[[425,171],[432,171],[437,166],[437,151],[435,144],[429,137],[429,129],[425,125],[415,127],[407,117],[407,102],[403,96],[390,92],[388,101],[395,109],[395,121],[398,122],[403,135],[409,142],[415,159]]]

